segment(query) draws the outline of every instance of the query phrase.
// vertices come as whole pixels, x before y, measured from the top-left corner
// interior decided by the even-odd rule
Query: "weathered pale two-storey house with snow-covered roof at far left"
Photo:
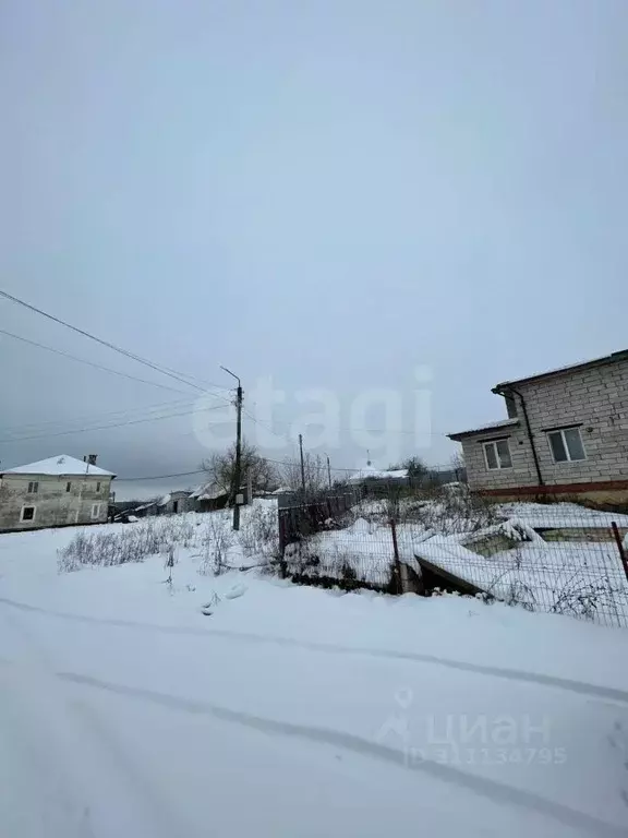
[[[116,475],[67,454],[0,471],[0,531],[107,520]]]

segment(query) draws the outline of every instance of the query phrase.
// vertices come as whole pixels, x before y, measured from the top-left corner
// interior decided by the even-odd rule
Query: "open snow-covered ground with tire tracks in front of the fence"
[[[628,834],[628,632],[75,531],[0,536],[1,836]]]

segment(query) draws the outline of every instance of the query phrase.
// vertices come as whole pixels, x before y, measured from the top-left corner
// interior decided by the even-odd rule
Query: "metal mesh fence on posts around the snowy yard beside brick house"
[[[346,495],[279,515],[283,570],[301,582],[457,591],[628,626],[628,515],[491,503],[464,487]]]

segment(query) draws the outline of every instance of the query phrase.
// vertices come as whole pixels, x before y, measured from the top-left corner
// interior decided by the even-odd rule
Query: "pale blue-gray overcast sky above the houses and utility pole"
[[[270,456],[323,390],[334,466],[445,463],[446,432],[505,416],[498,381],[626,348],[625,0],[0,10],[0,287],[197,384],[231,386],[226,364],[253,414],[271,376]],[[0,334],[3,467],[193,470],[204,417],[225,418],[3,299],[0,328],[179,391]],[[367,408],[382,388],[388,414]]]

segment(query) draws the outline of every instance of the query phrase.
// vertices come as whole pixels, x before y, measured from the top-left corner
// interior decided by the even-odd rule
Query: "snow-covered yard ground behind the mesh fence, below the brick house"
[[[419,575],[416,555],[507,602],[628,626],[628,582],[611,530],[615,520],[628,534],[626,515],[573,503],[474,508],[458,498],[401,499],[397,514],[399,558]],[[366,500],[352,515],[342,528],[289,544],[289,573],[386,589],[395,556],[389,504]],[[504,543],[486,555],[486,541],[495,537]]]

